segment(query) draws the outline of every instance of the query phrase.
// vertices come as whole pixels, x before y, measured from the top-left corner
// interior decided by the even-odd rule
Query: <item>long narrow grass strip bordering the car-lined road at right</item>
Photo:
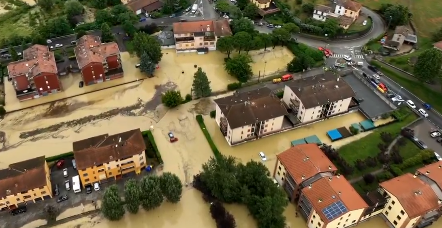
[[[442,93],[431,90],[427,88],[425,84],[419,83],[415,80],[411,80],[407,78],[407,76],[403,73],[395,71],[394,69],[391,69],[380,62],[372,61],[371,64],[378,67],[393,81],[397,82],[423,101],[431,104],[431,106],[438,112],[442,112]]]

